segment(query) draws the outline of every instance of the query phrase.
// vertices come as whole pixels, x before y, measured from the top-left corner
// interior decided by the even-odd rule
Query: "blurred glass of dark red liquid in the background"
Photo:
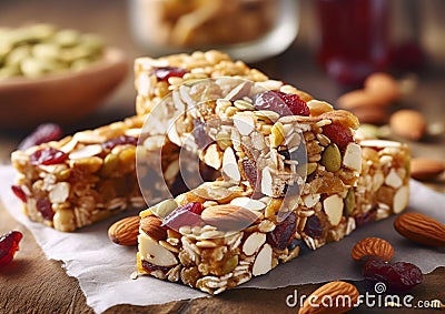
[[[359,84],[389,62],[387,0],[317,0],[317,58],[328,74]]]

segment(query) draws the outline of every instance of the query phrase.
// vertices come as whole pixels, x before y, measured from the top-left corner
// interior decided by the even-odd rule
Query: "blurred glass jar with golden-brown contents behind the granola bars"
[[[255,62],[285,51],[296,0],[129,0],[131,31],[150,55],[218,49]]]

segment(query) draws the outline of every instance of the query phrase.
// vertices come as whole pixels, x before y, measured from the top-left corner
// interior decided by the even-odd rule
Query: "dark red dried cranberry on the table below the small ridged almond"
[[[363,275],[368,281],[383,282],[388,290],[405,292],[422,283],[422,271],[412,263],[386,263],[382,260],[369,260],[363,267]]]

